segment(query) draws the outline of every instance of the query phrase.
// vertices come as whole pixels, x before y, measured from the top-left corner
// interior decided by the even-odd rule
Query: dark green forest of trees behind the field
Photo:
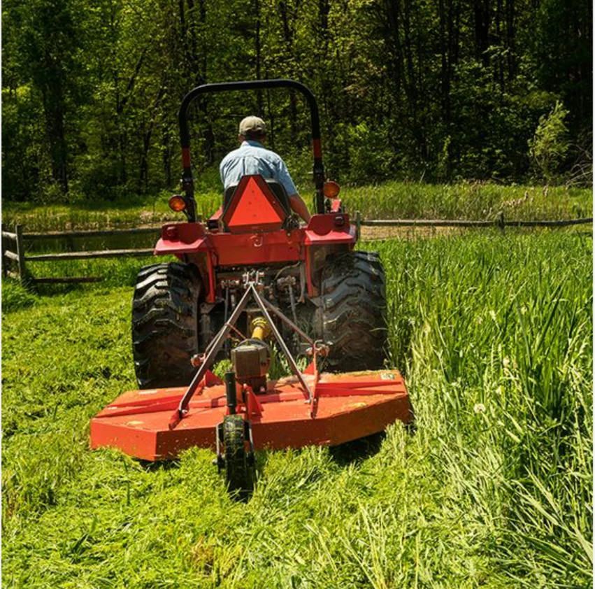
[[[177,111],[196,85],[294,78],[319,99],[329,177],[592,178],[589,0],[4,0],[3,199],[117,200],[178,185]],[[303,99],[192,108],[217,183],[238,121],[308,178]]]

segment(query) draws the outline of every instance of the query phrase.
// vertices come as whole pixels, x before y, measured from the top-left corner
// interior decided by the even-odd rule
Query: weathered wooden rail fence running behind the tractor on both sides
[[[503,213],[494,220],[468,221],[444,219],[362,219],[359,212],[355,215],[355,225],[359,236],[361,227],[569,227],[571,225],[586,225],[593,222],[593,218],[568,220],[505,220]],[[134,248],[124,250],[98,250],[64,252],[50,254],[25,254],[26,241],[42,241],[48,239],[73,239],[76,237],[115,237],[161,234],[159,227],[139,227],[136,229],[105,229],[101,231],[70,231],[48,233],[23,233],[22,226],[17,225],[13,232],[2,227],[2,276],[27,281],[31,284],[50,283],[93,283],[102,280],[101,276],[75,276],[69,278],[34,278],[27,272],[27,262],[55,262],[57,260],[92,260],[95,258],[149,256],[153,248]]]

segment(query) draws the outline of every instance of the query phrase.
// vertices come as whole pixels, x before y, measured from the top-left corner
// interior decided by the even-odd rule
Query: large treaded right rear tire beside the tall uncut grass
[[[317,338],[331,343],[325,369],[381,369],[387,349],[385,270],[375,252],[327,257],[320,279]]]

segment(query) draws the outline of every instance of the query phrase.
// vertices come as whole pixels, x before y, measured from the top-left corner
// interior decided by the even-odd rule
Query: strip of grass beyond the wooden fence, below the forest
[[[300,185],[300,193],[313,211],[313,187]],[[34,204],[3,201],[3,223],[23,225],[27,232],[103,229],[105,227],[159,226],[182,220],[172,213],[172,192],[131,195],[118,201],[73,204]],[[492,220],[502,211],[509,220],[570,219],[592,216],[592,190],[566,186],[460,183],[432,185],[387,182],[342,187],[340,198],[350,213],[364,219],[471,219]],[[222,192],[214,183],[196,191],[197,211],[208,218],[221,205]]]

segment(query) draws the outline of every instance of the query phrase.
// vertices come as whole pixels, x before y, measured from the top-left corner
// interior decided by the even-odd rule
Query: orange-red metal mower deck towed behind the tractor
[[[316,411],[295,377],[268,384],[251,406],[255,449],[336,446],[411,420],[408,393],[399,371],[321,374]],[[91,421],[91,447],[110,446],[141,460],[166,460],[182,450],[215,448],[215,428],[226,414],[224,385],[196,393],[187,415],[170,429],[185,388],[125,392]],[[239,398],[239,397],[238,397]],[[245,411],[239,405],[238,412]]]

